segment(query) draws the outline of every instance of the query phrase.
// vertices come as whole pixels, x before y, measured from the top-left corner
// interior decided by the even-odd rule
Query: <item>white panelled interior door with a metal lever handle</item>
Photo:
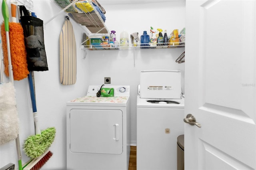
[[[255,0],[186,0],[185,169],[256,169],[255,51]]]

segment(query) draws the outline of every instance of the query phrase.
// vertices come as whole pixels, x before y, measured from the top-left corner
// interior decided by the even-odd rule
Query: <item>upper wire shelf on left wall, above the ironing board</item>
[[[85,5],[82,3],[82,0],[51,0],[54,2],[59,8],[64,10],[72,18],[76,23],[80,24],[82,28],[84,28],[86,35],[101,35],[104,36],[106,34],[110,34],[108,28],[100,13],[96,10],[96,7],[92,4],[92,0],[88,0],[88,3],[91,7],[94,8],[92,12],[82,12],[78,13],[78,10],[75,10],[74,5],[79,2],[80,8],[86,9]]]

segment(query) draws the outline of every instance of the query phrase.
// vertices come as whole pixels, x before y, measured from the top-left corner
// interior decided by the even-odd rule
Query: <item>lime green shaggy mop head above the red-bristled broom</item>
[[[54,127],[42,130],[41,134],[29,136],[24,143],[24,153],[34,159],[41,156],[52,144],[55,138],[56,129]]]

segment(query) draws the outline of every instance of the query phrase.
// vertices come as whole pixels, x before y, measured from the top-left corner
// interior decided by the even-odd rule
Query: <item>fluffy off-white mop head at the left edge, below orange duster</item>
[[[0,84],[0,144],[17,138],[19,119],[13,83]]]

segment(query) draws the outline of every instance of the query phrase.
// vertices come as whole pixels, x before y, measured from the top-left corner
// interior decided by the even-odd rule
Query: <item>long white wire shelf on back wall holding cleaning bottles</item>
[[[90,51],[98,50],[132,50],[132,49],[168,49],[168,48],[184,48],[185,42],[180,43],[168,43],[168,45],[162,45],[162,43],[157,43],[158,46],[142,46],[144,44],[128,44],[126,46],[111,47],[110,45],[81,45],[82,48]]]

